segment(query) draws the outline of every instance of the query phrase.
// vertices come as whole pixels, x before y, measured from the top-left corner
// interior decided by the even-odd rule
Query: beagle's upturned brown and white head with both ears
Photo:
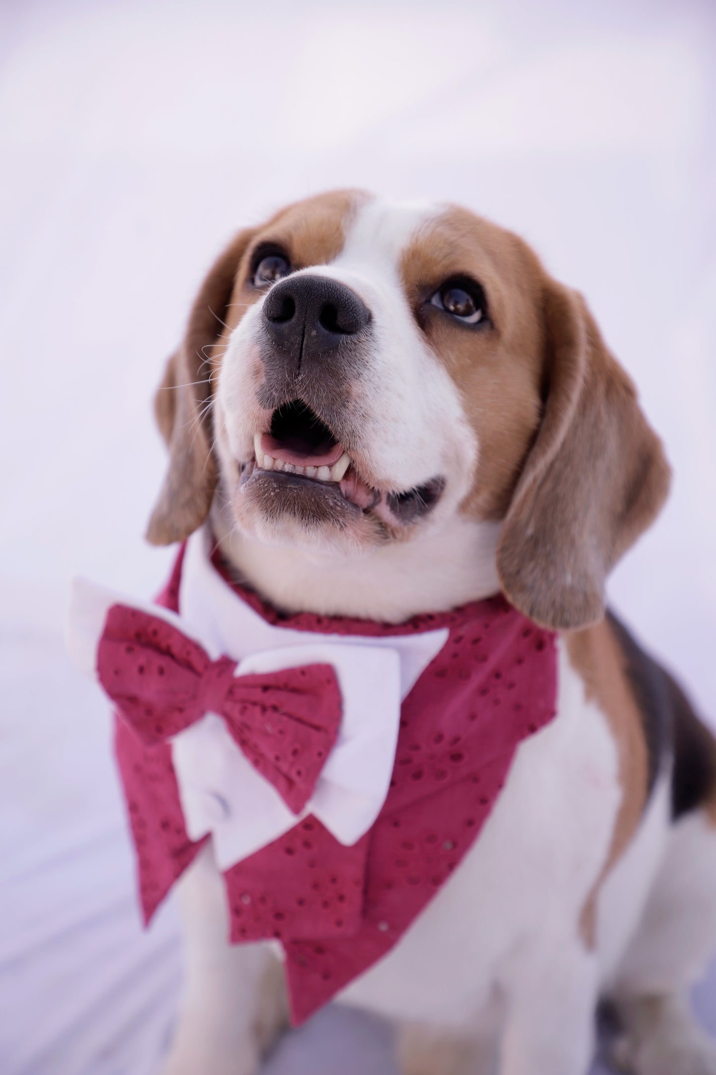
[[[669,484],[581,297],[455,206],[355,191],[291,205],[211,268],[157,397],[169,473],[149,540],[219,489],[240,531],[334,555],[501,521],[521,611],[573,628]]]

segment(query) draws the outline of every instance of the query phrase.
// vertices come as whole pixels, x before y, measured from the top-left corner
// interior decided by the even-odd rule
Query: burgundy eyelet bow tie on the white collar
[[[159,616],[116,604],[97,655],[104,690],[141,740],[170,739],[206,713],[231,735],[294,814],[310,799],[338,734],[341,698],[331,664],[235,676]]]

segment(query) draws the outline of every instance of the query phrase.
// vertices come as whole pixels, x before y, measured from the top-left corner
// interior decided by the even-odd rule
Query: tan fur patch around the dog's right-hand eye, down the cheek
[[[489,325],[461,325],[428,307],[422,328],[455,382],[480,444],[462,510],[502,518],[542,408],[539,262],[512,232],[451,207],[418,231],[400,271],[414,310],[450,276],[471,276],[487,296]]]

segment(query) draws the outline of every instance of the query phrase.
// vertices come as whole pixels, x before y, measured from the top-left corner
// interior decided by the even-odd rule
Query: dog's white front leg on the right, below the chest
[[[594,952],[575,933],[511,963],[500,1075],[586,1075],[595,1046]]]

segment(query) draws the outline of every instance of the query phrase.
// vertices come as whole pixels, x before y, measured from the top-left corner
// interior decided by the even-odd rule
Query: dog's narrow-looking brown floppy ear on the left
[[[184,541],[206,518],[217,484],[211,452],[211,346],[221,334],[236,270],[254,231],[239,232],[211,266],[194,300],[184,341],[166,363],[155,414],[169,470],[147,528],[152,545]]]

